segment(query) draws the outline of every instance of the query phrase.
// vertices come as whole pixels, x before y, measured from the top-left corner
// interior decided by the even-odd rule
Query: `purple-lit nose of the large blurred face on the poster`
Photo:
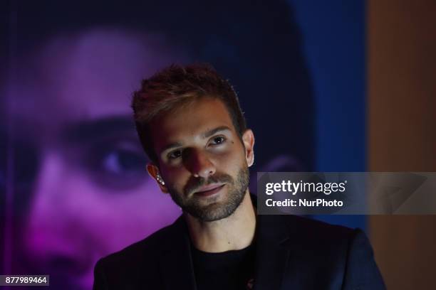
[[[38,267],[79,273],[88,263],[81,253],[80,224],[74,222],[74,205],[78,203],[73,200],[75,188],[66,177],[67,168],[57,154],[41,158],[24,225],[24,246],[28,259]]]

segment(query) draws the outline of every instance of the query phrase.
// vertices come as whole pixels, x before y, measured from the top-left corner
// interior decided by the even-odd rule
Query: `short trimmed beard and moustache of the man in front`
[[[217,198],[208,205],[202,205],[202,198],[195,196],[195,190],[201,186],[207,186],[212,183],[227,183],[227,198],[218,202]],[[186,213],[189,213],[194,218],[203,222],[213,222],[227,218],[239,207],[244,200],[246,189],[249,186],[249,168],[243,166],[237,173],[236,178],[225,173],[215,173],[207,180],[204,178],[191,178],[186,184],[183,194],[177,193],[175,188],[167,188],[172,200],[182,208]]]

